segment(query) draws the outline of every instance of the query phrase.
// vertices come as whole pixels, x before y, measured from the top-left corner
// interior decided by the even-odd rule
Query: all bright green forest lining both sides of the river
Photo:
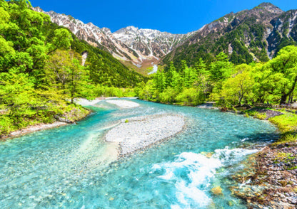
[[[207,57],[171,62],[144,77],[51,23],[29,1],[0,0],[0,133],[54,122],[69,112],[86,114],[74,104],[76,97],[136,96],[181,105],[213,101],[224,108],[293,102],[296,46],[263,62],[246,57],[248,62],[238,64],[236,55],[223,52]]]

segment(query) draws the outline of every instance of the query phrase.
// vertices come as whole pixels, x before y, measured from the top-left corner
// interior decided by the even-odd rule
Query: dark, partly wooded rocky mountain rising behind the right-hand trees
[[[297,10],[284,12],[270,3],[230,13],[203,26],[163,57],[163,63],[209,62],[223,51],[233,63],[267,61],[283,46],[297,43]]]

